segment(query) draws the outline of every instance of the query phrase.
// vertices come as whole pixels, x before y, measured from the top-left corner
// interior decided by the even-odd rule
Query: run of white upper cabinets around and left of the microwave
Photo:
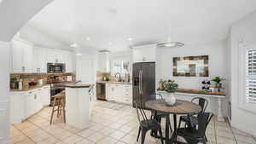
[[[47,63],[64,63],[66,72],[74,72],[73,52],[34,47],[20,37],[15,37],[11,44],[13,73],[47,72]]]

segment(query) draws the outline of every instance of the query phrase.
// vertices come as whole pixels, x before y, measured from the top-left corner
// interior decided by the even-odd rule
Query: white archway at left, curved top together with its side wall
[[[0,0],[0,143],[9,144],[9,41],[52,0]]]

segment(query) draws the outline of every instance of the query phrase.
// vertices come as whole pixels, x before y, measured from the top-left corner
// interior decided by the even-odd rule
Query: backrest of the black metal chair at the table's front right
[[[212,119],[213,114],[210,112],[201,112],[198,114],[198,137],[205,136],[207,125]]]

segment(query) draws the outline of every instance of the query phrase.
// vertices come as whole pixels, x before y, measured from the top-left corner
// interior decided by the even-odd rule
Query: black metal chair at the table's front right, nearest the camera
[[[178,128],[177,135],[182,136],[188,144],[197,144],[199,142],[207,144],[206,130],[213,114],[210,112],[201,112],[198,114],[198,126],[195,128]],[[176,137],[177,141],[177,137]]]

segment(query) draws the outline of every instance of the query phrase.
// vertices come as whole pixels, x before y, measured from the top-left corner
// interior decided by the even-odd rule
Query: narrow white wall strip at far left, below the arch
[[[0,41],[0,143],[9,143],[9,55],[10,44]]]

